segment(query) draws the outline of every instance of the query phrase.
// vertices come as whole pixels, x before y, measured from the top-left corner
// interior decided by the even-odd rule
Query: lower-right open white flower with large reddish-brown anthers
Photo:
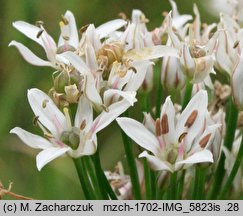
[[[145,125],[130,118],[117,118],[117,122],[147,150],[139,157],[146,157],[154,170],[174,172],[195,163],[213,162],[209,147],[220,125],[209,125],[206,121],[207,104],[207,92],[201,90],[179,117],[175,116],[175,108],[167,97],[156,121],[145,115]]]

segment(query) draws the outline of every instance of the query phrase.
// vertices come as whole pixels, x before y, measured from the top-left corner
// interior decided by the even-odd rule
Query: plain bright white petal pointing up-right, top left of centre
[[[115,19],[109,22],[106,22],[96,28],[96,33],[99,35],[100,39],[108,36],[110,33],[116,31],[117,29],[125,26],[127,22],[123,19]]]

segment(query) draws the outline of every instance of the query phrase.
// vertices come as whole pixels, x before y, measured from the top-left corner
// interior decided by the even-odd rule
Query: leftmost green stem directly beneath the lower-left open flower
[[[75,164],[75,167],[76,167],[76,170],[78,173],[78,177],[79,177],[79,181],[82,186],[85,198],[87,200],[94,199],[94,196],[91,192],[91,187],[89,187],[89,185],[88,185],[86,169],[85,169],[84,163],[82,161],[82,158],[74,158],[73,162]]]

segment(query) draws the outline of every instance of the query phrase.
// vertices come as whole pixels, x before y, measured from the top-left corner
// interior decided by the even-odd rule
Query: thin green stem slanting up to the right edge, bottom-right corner
[[[219,199],[223,199],[227,193],[227,191],[229,190],[230,186],[232,185],[232,182],[238,172],[238,169],[240,167],[240,164],[241,164],[241,161],[242,161],[242,158],[243,158],[243,136],[241,138],[241,144],[240,144],[240,149],[239,149],[239,152],[237,154],[237,157],[236,157],[236,160],[235,160],[235,163],[234,163],[234,166],[230,172],[230,175],[223,187],[223,190],[221,191],[220,195],[219,195]]]

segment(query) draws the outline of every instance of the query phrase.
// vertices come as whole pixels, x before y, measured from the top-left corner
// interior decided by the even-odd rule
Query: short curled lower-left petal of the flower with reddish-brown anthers
[[[162,161],[159,158],[148,154],[147,151],[142,152],[138,157],[139,158],[141,158],[141,157],[147,158],[151,168],[155,171],[165,170],[165,171],[173,172],[173,169],[168,162]]]

